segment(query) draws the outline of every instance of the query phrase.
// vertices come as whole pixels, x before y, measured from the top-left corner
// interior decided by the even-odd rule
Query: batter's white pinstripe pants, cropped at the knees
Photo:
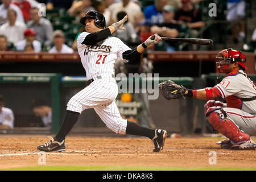
[[[126,134],[127,120],[121,117],[115,104],[117,94],[118,86],[114,78],[95,78],[89,86],[69,100],[67,110],[81,113],[85,109],[93,108],[110,130]]]

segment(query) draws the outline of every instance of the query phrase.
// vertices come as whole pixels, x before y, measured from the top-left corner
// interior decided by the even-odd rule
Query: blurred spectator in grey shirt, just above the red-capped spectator
[[[48,19],[38,15],[38,8],[30,9],[31,20],[27,22],[28,28],[32,28],[36,32],[36,40],[41,44],[49,47],[52,43],[53,27]]]

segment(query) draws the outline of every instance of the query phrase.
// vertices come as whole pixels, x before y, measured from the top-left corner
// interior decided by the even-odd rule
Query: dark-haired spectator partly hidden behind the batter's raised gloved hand
[[[123,19],[123,17],[125,17],[126,15],[127,13],[125,11],[120,11],[117,14],[117,20],[119,21]],[[125,44],[136,42],[137,34],[133,24],[131,24],[130,22],[125,22],[123,24],[123,27],[126,28],[126,31],[117,30],[114,32],[114,36],[117,36],[117,38],[121,39]]]

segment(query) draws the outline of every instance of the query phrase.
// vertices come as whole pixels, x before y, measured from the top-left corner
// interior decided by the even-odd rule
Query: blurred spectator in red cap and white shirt
[[[35,40],[36,32],[34,32],[31,28],[27,28],[24,31],[24,40],[17,42],[14,44],[16,51],[25,51],[27,43],[31,43],[34,51],[36,53],[41,51],[41,43],[38,40]]]

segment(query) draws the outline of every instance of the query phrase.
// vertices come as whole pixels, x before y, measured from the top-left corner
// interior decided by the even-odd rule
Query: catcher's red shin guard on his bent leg
[[[221,110],[224,118],[221,117],[221,114],[214,112],[216,110]],[[205,115],[207,116],[210,125],[212,125],[215,130],[222,135],[225,135],[225,137],[233,142],[238,143],[250,140],[250,135],[243,133],[233,121],[226,118],[226,113],[222,107],[209,107]]]

